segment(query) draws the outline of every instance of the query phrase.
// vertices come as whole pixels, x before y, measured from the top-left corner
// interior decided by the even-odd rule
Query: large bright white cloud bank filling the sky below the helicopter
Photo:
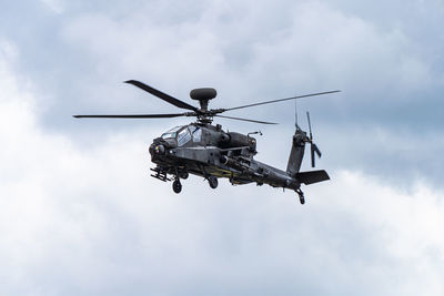
[[[442,192],[332,171],[304,206],[196,177],[175,195],[147,174],[155,129],[88,145],[42,129],[1,49],[1,294],[442,295]]]

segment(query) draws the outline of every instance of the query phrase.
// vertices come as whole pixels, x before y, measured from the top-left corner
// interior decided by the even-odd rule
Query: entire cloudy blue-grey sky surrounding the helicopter
[[[1,295],[443,295],[444,2],[1,1]],[[212,108],[297,94],[331,181],[290,191],[149,176],[188,119],[135,79]],[[220,119],[286,167],[291,102]],[[305,160],[303,170],[311,170]]]

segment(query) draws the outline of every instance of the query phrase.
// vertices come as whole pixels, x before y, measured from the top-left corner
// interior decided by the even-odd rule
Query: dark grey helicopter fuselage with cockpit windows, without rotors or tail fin
[[[150,146],[158,172],[203,177],[226,177],[232,184],[269,184],[297,190],[300,182],[287,172],[254,160],[256,140],[250,135],[224,132],[220,125],[176,126]],[[154,175],[155,176],[155,175]]]

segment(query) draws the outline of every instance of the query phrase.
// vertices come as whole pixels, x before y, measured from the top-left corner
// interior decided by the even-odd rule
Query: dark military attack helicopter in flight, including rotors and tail
[[[178,116],[191,116],[196,121],[186,125],[175,126],[161,136],[153,140],[149,147],[151,161],[155,167],[151,169],[152,177],[160,181],[172,181],[174,193],[182,191],[181,178],[185,180],[189,174],[202,176],[208,180],[211,188],[218,187],[218,178],[226,177],[232,185],[256,183],[258,185],[269,184],[273,187],[293,190],[301,204],[305,203],[304,193],[301,184],[313,184],[330,180],[324,170],[300,172],[304,156],[305,144],[311,146],[312,167],[315,166],[315,156],[321,157],[321,151],[313,143],[310,114],[309,135],[295,124],[295,132],[292,140],[292,147],[289,156],[286,171],[279,170],[271,165],[254,160],[256,151],[256,140],[251,136],[259,132],[241,134],[236,132],[225,132],[220,124],[212,124],[213,118],[224,118],[254,122],[261,124],[276,124],[273,122],[256,121],[243,118],[221,115],[221,113],[252,108],[256,105],[278,103],[301,98],[323,95],[339,91],[327,91],[310,93],[304,95],[291,96],[279,100],[264,101],[253,104],[240,105],[229,109],[209,109],[209,101],[216,96],[216,91],[212,88],[194,89],[190,92],[193,100],[199,101],[200,108],[195,108],[167,93],[153,89],[143,82],[129,80],[125,83],[138,86],[152,95],[180,109],[188,110],[182,113],[170,114],[128,114],[128,115],[73,115],[77,119],[168,119]]]

